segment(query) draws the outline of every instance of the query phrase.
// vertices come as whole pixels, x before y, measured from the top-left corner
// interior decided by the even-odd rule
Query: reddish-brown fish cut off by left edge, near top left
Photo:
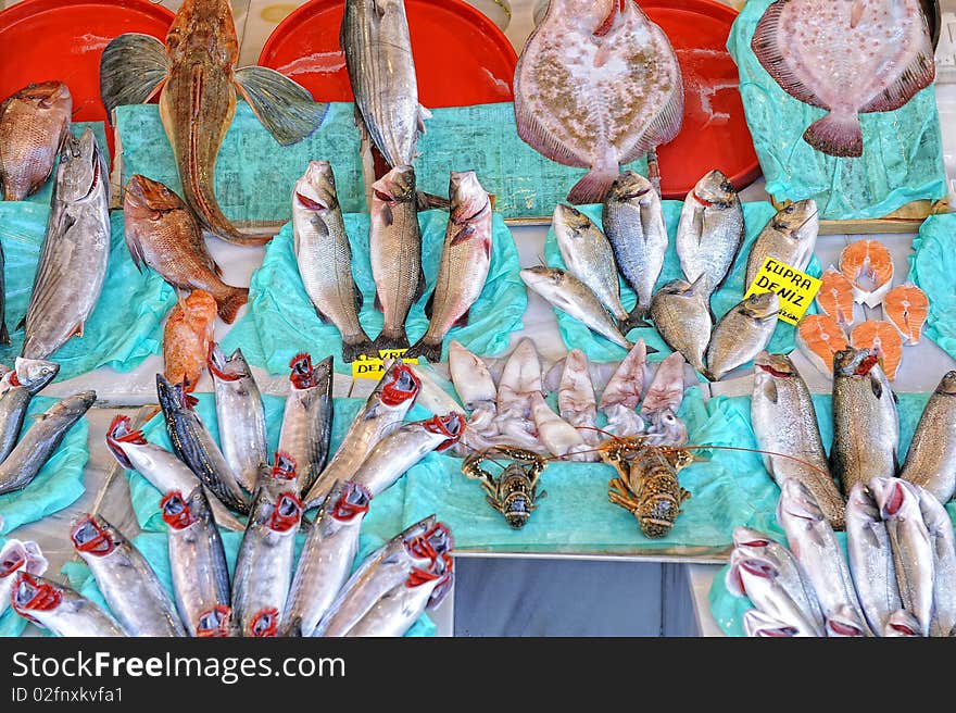
[[[3,200],[23,200],[47,183],[72,115],[73,98],[62,82],[27,85],[0,103]]]

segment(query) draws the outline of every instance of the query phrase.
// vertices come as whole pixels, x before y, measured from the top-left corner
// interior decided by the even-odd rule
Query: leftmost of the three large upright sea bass
[[[302,285],[318,318],[341,333],[342,359],[378,356],[358,323],[362,291],[352,275],[352,248],[328,161],[310,161],[292,189],[292,235]]]

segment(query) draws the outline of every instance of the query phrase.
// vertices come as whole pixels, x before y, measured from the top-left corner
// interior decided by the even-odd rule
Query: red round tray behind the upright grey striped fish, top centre
[[[312,0],[273,30],[259,63],[291,77],[316,101],[352,101],[339,46],[345,3]],[[462,0],[406,0],[422,103],[466,107],[512,100],[517,55],[507,37]]]

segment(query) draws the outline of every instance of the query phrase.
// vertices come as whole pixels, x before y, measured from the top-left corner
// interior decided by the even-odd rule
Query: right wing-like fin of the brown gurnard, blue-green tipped
[[[234,82],[269,134],[289,146],[322,125],[327,103],[316,103],[302,86],[275,70],[248,66],[236,70]]]

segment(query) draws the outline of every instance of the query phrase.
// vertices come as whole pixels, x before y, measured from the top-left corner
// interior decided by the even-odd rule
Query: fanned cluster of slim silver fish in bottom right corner
[[[857,483],[846,504],[846,553],[813,495],[783,484],[784,547],[733,533],[726,583],[755,609],[747,636],[956,636],[956,541],[942,503],[896,478]]]

